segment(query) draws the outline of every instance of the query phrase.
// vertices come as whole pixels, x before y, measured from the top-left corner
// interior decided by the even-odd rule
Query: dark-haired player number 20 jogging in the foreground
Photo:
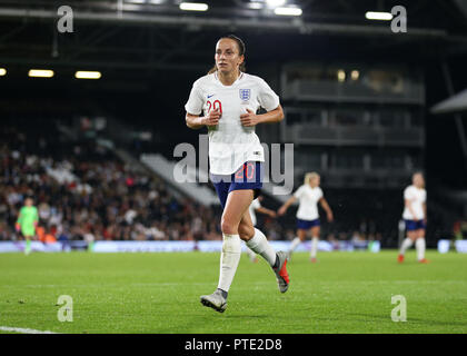
[[[259,107],[267,112],[257,115]],[[279,290],[287,291],[287,254],[276,254],[265,235],[254,227],[248,212],[262,187],[265,161],[255,126],[279,122],[284,112],[279,97],[266,81],[245,72],[242,40],[232,34],[219,39],[215,67],[195,81],[185,109],[189,128],[208,127],[210,179],[223,208],[219,284],[215,293],[201,296],[201,303],[217,312],[226,310],[227,295],[240,260],[240,239],[269,263]]]

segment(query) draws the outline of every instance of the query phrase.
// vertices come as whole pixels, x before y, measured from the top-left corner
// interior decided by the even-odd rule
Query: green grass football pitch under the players
[[[308,334],[467,333],[467,255],[428,251],[428,265],[396,250],[297,253],[280,294],[266,261],[242,255],[227,310],[199,303],[217,287],[219,254],[3,254],[0,327],[54,333]],[[73,322],[58,320],[60,295]],[[391,320],[391,297],[407,322]],[[1,332],[0,332],[1,333]]]

